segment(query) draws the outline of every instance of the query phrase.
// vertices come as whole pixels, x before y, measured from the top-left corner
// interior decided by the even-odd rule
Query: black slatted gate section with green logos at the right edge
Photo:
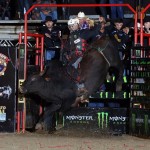
[[[149,47],[131,49],[131,103],[149,103],[150,59]]]

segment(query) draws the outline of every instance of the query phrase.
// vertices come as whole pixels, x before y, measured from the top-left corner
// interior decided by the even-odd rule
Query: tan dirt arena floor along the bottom
[[[81,130],[0,133],[0,150],[150,150],[150,139]]]

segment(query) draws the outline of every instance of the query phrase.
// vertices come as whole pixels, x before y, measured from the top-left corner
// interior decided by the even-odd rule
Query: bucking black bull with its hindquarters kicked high
[[[100,39],[89,46],[80,64],[79,73],[84,90],[78,89],[61,62],[52,61],[48,70],[29,77],[20,91],[38,95],[47,103],[40,122],[44,122],[46,130],[51,130],[54,113],[65,112],[88,99],[103,84],[111,67],[118,70],[117,87],[120,89],[123,67],[119,53],[109,39]]]

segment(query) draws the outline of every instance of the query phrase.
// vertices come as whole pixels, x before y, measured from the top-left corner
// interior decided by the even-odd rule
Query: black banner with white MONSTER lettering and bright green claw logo
[[[75,128],[108,129],[112,132],[127,132],[126,108],[75,108],[64,115],[64,126]]]

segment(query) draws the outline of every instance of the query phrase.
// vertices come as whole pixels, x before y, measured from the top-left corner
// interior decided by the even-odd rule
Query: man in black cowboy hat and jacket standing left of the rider
[[[59,59],[59,52],[61,47],[61,30],[54,26],[54,20],[51,16],[46,16],[45,26],[40,29],[40,34],[44,34],[45,43],[45,61],[46,65],[51,59]]]

